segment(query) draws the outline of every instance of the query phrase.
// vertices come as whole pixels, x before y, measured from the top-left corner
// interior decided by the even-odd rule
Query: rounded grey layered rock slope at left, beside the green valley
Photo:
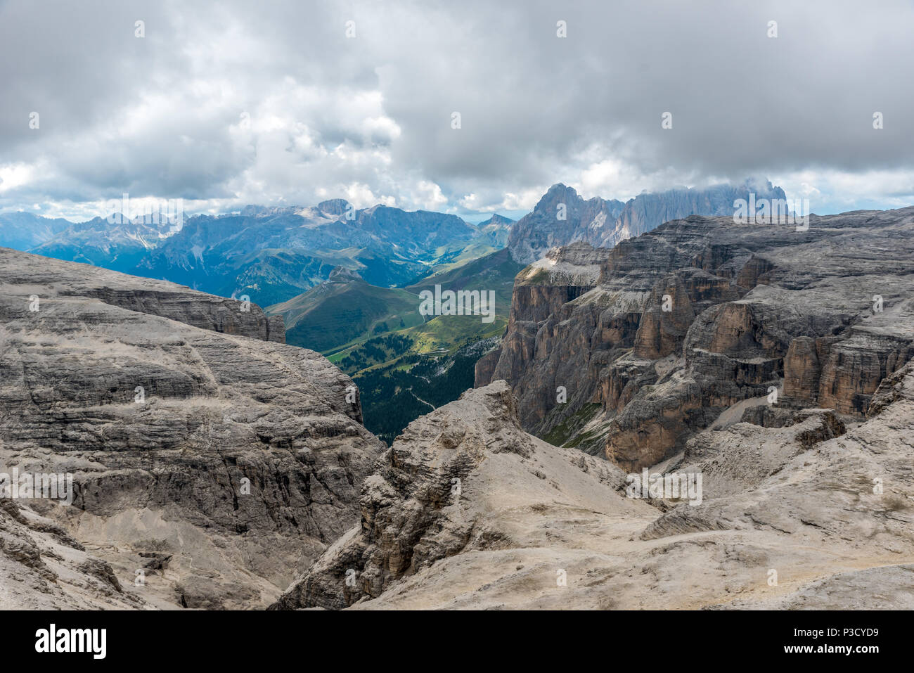
[[[0,472],[73,478],[72,505],[5,500],[0,529],[45,539],[29,562],[63,604],[267,604],[356,520],[382,444],[260,307],[5,249],[0,279]],[[129,596],[80,589],[79,548]]]

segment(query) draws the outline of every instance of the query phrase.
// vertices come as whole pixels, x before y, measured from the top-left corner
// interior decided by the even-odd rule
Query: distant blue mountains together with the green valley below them
[[[611,247],[664,219],[732,213],[750,193],[784,198],[779,187],[760,187],[683,187],[623,203],[585,200],[558,184],[522,219],[494,214],[478,225],[446,213],[356,209],[341,198],[194,215],[180,227],[120,214],[69,224],[12,213],[0,215],[0,245],[264,306],[282,316],[288,343],[356,379],[367,391],[367,427],[390,443],[473,384],[475,359],[505,330],[515,274],[527,263],[578,241]],[[420,315],[420,292],[436,285],[494,292],[494,322]]]

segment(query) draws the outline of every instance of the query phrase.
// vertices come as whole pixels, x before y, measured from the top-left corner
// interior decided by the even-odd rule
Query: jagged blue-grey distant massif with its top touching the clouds
[[[757,198],[783,199],[781,187],[765,185],[716,185],[685,187],[639,194],[622,203],[599,197],[584,200],[572,187],[549,187],[536,208],[511,225],[508,250],[515,261],[535,262],[550,248],[583,241],[597,248],[611,248],[621,240],[640,236],[671,219],[689,215],[732,215],[733,202]]]

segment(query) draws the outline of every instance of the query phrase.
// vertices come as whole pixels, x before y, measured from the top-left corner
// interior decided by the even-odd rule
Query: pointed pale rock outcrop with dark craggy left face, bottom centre
[[[524,433],[505,381],[467,391],[410,423],[363,486],[360,524],[273,608],[342,608],[450,557],[525,545],[518,517],[650,511],[619,495],[623,482],[606,462]]]

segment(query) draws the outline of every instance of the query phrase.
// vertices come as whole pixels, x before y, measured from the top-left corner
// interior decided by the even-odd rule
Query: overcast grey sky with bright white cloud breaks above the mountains
[[[813,212],[894,208],[914,203],[912,29],[892,0],[0,0],[0,210],[82,219],[126,192],[473,219],[556,182],[749,176]]]

